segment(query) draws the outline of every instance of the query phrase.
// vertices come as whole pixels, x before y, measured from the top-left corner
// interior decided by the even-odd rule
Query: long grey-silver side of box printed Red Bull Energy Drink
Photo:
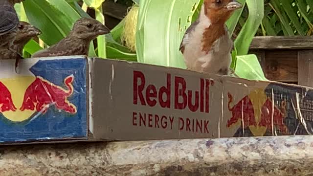
[[[312,134],[313,89],[90,59],[91,128],[104,140]]]

